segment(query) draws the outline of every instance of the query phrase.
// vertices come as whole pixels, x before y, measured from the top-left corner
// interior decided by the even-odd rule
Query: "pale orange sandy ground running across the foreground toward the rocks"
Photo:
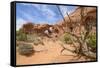
[[[84,58],[80,58],[79,60],[74,60],[75,55],[67,50],[63,52],[63,55],[60,53],[62,47],[60,45],[60,41],[54,41],[52,39],[44,39],[44,46],[38,45],[34,46],[36,52],[34,55],[30,57],[19,55],[16,53],[17,57],[17,65],[27,65],[27,64],[46,64],[46,63],[61,63],[61,62],[73,62],[73,61],[85,61]],[[73,60],[72,60],[73,59]]]

